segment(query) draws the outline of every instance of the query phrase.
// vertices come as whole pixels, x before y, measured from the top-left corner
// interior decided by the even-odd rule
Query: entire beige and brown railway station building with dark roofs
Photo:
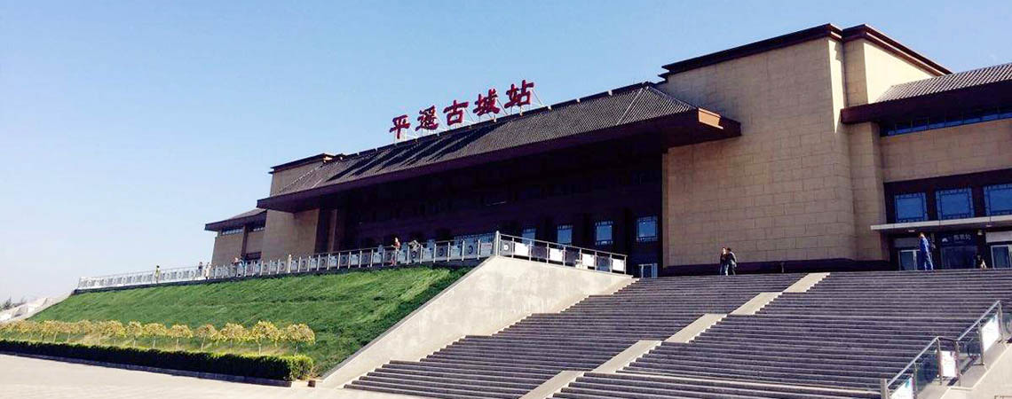
[[[494,231],[632,274],[1010,265],[1012,64],[953,73],[867,25],[812,27],[438,134],[271,168],[213,262]]]

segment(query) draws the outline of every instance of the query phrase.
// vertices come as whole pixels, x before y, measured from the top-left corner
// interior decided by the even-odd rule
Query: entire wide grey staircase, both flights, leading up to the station
[[[836,273],[785,290],[799,277],[642,280],[418,362],[391,362],[346,388],[439,398],[879,398],[881,379],[935,336],[955,337],[996,300],[1012,299],[1012,271]],[[750,302],[761,306],[742,312]],[[706,317],[720,321],[673,339]],[[600,367],[635,344],[649,352]]]

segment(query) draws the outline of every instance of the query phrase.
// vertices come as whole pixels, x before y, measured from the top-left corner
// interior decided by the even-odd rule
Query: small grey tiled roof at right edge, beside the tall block
[[[1012,63],[896,85],[882,93],[875,102],[901,100],[1009,80],[1012,80]]]

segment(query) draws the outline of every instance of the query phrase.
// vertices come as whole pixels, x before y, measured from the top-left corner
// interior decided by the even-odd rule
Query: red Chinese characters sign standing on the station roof
[[[534,88],[534,82],[527,82],[523,80],[520,82],[518,87],[516,84],[511,84],[509,90],[506,91],[506,97],[508,101],[505,104],[499,102],[499,94],[496,89],[489,89],[486,93],[478,94],[478,99],[475,100],[475,108],[471,110],[478,120],[481,120],[483,116],[490,116],[495,118],[503,110],[509,110],[510,108],[518,107],[523,110],[523,106],[529,106],[531,104],[531,95]],[[457,101],[453,100],[453,103],[449,106],[443,108],[442,112],[446,115],[446,128],[456,124],[472,123],[468,121],[467,113],[469,111],[468,106],[471,103],[468,101]],[[429,130],[434,131],[439,128],[439,118],[436,116],[436,107],[430,106],[425,109],[418,111],[418,117],[415,118],[418,121],[418,125],[415,126],[415,131],[418,130]],[[411,131],[411,122],[408,120],[408,115],[400,115],[393,119],[394,126],[390,128],[390,132],[395,133],[398,140],[406,138],[404,130]]]

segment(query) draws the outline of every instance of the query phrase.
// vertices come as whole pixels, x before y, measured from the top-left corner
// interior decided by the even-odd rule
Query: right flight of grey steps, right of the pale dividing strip
[[[756,315],[728,316],[691,342],[665,342],[621,373],[876,395],[880,379],[903,370],[933,337],[959,335],[1010,297],[1009,271],[832,274]]]

